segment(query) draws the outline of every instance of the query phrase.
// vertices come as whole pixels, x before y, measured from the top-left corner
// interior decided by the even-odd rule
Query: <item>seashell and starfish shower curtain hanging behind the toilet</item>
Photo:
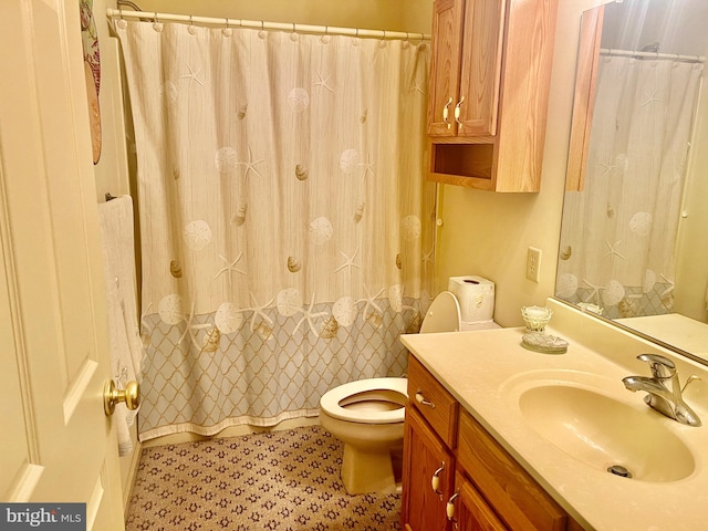
[[[433,287],[429,46],[117,20],[135,122],[143,439],[402,375]]]

